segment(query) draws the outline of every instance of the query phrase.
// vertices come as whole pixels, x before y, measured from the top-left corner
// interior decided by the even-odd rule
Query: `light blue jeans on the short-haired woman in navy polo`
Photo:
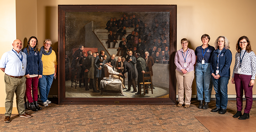
[[[211,79],[210,63],[199,63],[195,65],[195,83],[197,89],[197,99],[210,102],[213,83]]]

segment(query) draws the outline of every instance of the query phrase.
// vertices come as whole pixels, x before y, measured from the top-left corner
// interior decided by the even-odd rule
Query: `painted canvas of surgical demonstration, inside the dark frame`
[[[168,98],[170,12],[66,12],[66,98]]]

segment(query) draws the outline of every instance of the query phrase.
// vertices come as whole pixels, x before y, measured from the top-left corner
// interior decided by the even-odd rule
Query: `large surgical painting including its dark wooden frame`
[[[59,104],[176,103],[176,5],[58,11]]]

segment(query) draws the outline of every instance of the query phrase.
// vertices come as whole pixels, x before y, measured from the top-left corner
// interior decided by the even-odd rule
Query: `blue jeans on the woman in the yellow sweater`
[[[38,86],[40,91],[40,97],[43,102],[46,102],[48,99],[48,94],[52,86],[54,74],[52,75],[42,75],[42,78],[38,80]]]

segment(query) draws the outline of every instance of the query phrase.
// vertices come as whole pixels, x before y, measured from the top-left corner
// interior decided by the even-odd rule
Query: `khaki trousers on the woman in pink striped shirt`
[[[190,105],[192,95],[192,82],[194,80],[194,70],[183,74],[178,70],[176,72],[176,79],[178,83],[178,101],[180,104],[184,103],[184,90],[185,90],[185,105]]]

